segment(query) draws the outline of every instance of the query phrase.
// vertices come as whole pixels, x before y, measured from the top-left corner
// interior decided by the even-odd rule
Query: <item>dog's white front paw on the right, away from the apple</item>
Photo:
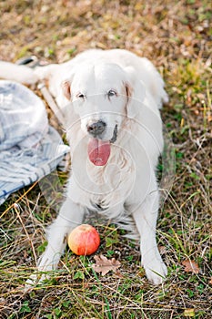
[[[164,282],[167,276],[167,266],[164,262],[156,260],[156,262],[152,262],[152,264],[148,264],[144,268],[149,282],[153,284]]]

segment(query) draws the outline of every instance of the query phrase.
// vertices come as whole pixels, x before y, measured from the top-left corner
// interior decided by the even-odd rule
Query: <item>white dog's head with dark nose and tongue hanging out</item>
[[[110,145],[116,142],[123,122],[135,117],[132,70],[116,64],[81,66],[63,81],[62,88],[90,138],[89,159],[96,166],[106,165]]]

